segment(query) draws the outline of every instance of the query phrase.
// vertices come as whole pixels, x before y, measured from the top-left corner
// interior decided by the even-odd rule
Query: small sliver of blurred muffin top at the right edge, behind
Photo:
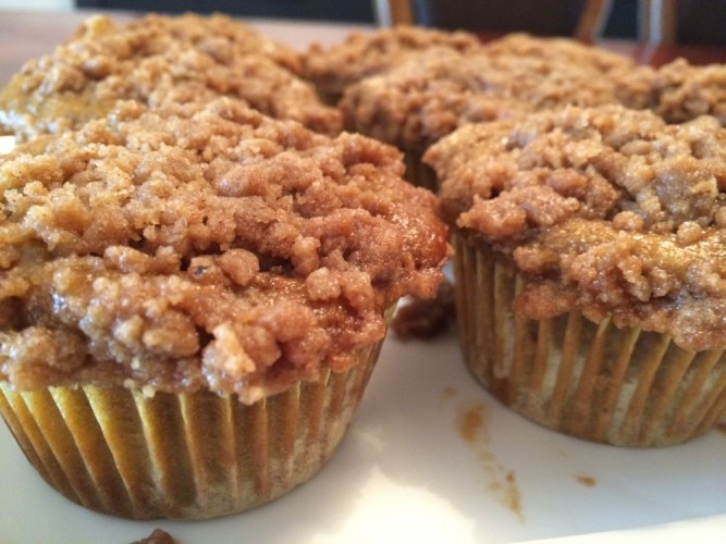
[[[726,64],[694,66],[685,59],[657,70],[656,113],[670,123],[713,115],[726,126]]]

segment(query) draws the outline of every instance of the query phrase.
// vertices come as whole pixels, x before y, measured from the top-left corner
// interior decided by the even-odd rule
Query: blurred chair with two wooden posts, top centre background
[[[442,28],[462,28],[468,30],[492,32],[531,32],[533,34],[571,35],[583,41],[593,41],[602,36],[612,9],[612,0],[580,0],[559,2],[542,2],[529,0],[529,3],[518,0],[479,1],[477,0],[374,0],[374,9],[379,23],[382,26],[397,24],[420,24],[422,26],[438,26]],[[434,4],[439,4],[438,7]],[[528,7],[531,16],[529,20],[517,21],[521,7]],[[573,7],[579,12],[571,13]],[[561,16],[553,21],[551,16],[559,9],[566,17]],[[458,12],[456,10],[459,10]],[[497,11],[505,15],[507,21],[497,23]],[[567,13],[569,12],[569,13]],[[456,21],[441,16],[456,14]],[[567,28],[563,22],[570,22]],[[547,21],[550,21],[547,23]],[[521,24],[522,26],[517,26]],[[509,25],[510,27],[505,27]]]

